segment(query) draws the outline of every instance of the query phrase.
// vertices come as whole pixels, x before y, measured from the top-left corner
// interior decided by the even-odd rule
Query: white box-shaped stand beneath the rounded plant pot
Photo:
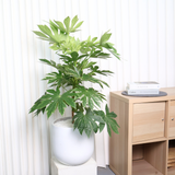
[[[51,158],[51,175],[97,175],[96,162],[91,158],[79,166],[69,166]]]

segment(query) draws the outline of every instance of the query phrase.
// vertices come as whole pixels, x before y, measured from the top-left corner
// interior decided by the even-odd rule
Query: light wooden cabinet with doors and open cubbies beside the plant
[[[168,155],[173,150],[175,156],[175,88],[161,91],[167,95],[110,92],[110,110],[120,126],[109,140],[109,167],[116,175],[175,175],[175,161]]]

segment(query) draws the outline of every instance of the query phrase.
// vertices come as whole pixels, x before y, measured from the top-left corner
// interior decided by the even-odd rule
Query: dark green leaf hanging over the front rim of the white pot
[[[81,135],[85,131],[88,137],[90,137],[93,131],[95,133],[98,131],[97,122],[105,124],[102,117],[96,116],[90,108],[86,109],[85,114],[78,112],[73,119],[74,129],[78,128]]]

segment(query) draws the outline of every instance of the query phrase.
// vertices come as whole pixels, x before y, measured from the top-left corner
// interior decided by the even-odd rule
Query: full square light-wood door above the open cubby
[[[133,104],[133,138],[143,141],[164,137],[165,102]]]

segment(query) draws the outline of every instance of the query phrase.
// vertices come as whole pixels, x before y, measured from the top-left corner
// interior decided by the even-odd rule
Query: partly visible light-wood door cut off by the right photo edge
[[[171,101],[170,107],[170,137],[175,136],[175,101]]]

